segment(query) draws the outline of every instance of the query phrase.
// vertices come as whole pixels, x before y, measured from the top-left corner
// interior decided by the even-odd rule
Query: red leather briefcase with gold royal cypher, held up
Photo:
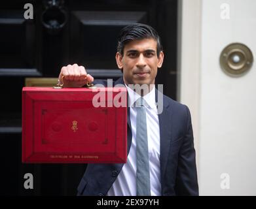
[[[126,163],[124,98],[126,88],[23,88],[22,162]]]

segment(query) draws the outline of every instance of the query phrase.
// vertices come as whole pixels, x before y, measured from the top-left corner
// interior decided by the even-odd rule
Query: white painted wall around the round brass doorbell
[[[219,65],[221,51],[231,42],[249,46],[256,59],[256,1],[183,0],[180,11],[191,2],[196,8],[190,7],[191,16],[182,14],[180,22],[179,98],[196,111],[192,121],[200,195],[256,195],[256,64],[239,78],[228,76]],[[230,6],[229,20],[221,19],[223,3]],[[193,19],[198,10],[200,20]],[[186,33],[190,27],[183,26],[191,20],[196,21],[190,32],[195,40]],[[189,57],[191,46],[197,54]],[[189,76],[196,80],[188,82]],[[229,174],[230,189],[221,189],[222,173]]]

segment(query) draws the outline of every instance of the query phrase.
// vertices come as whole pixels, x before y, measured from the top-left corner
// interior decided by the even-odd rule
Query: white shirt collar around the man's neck
[[[134,103],[136,102],[137,99],[139,99],[139,97],[141,97],[141,95],[137,94],[136,91],[133,91],[133,89],[129,88],[126,84],[126,89],[128,91],[128,95],[129,95],[129,106],[133,106]],[[149,93],[147,93],[143,99],[146,101],[146,103],[149,105],[149,108],[154,108],[156,106],[156,95],[155,95],[155,85],[153,87],[153,89],[151,89],[151,91],[149,91]]]

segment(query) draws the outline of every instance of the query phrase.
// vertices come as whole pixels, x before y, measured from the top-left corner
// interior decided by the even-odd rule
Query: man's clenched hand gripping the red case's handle
[[[64,76],[62,80],[62,76]],[[80,88],[85,84],[92,83],[94,77],[87,74],[83,66],[67,65],[62,67],[59,75],[60,84],[64,83],[64,88]]]

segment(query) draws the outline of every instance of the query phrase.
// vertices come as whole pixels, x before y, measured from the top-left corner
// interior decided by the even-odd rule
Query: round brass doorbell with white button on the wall
[[[223,71],[233,76],[239,76],[251,69],[253,54],[246,45],[232,43],[223,49],[219,61]]]

